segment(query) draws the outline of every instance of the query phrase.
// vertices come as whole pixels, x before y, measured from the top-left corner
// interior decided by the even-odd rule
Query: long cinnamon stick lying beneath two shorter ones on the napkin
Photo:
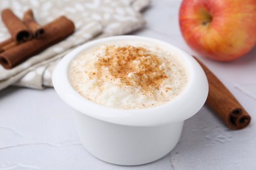
[[[72,33],[74,33],[75,25],[68,18],[61,16],[50,24],[43,27],[45,35],[40,39],[32,39],[18,46],[6,50],[0,54],[0,64],[5,69],[12,69],[22,61],[38,54],[47,47],[62,41]]]

